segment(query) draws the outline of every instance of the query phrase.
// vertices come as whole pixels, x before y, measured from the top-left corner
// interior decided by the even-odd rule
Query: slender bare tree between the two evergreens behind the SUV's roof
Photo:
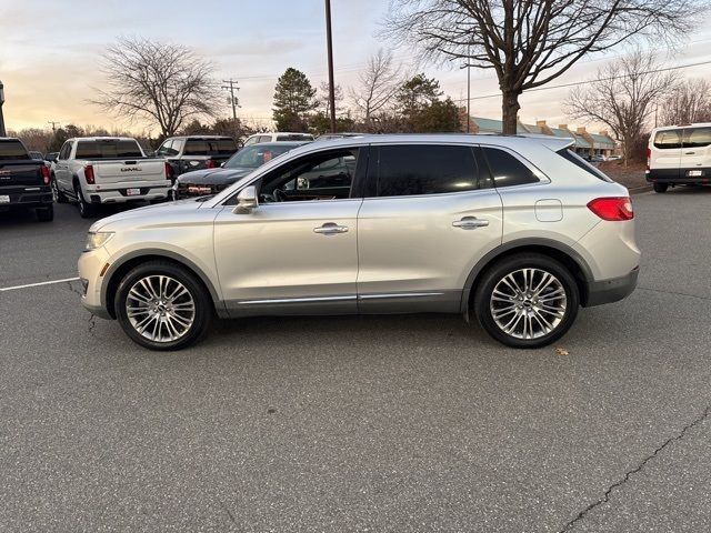
[[[394,95],[404,81],[402,66],[395,66],[392,52],[382,48],[370,57],[368,67],[358,76],[358,86],[349,94],[367,128],[373,115],[394,103]]]

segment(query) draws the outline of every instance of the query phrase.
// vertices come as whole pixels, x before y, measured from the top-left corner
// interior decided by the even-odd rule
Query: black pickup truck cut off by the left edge
[[[50,171],[32,159],[22,141],[0,137],[0,211],[33,209],[40,222],[54,218]]]

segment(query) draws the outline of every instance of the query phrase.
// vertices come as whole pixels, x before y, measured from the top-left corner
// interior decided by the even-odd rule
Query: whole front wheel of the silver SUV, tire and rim
[[[126,274],[114,310],[131,340],[150,350],[180,350],[197,342],[213,312],[194,275],[167,261],[150,261]]]

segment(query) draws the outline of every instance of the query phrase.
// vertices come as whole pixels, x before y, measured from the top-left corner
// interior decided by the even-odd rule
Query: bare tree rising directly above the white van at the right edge
[[[660,125],[711,121],[711,84],[703,79],[679,83],[664,99],[659,120]]]

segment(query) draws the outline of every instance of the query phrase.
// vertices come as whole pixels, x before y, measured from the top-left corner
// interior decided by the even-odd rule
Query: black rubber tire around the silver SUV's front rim
[[[151,303],[147,303],[144,304],[146,305],[144,308],[141,308],[146,310],[146,312],[140,311],[139,314],[133,314],[132,319],[129,318],[129,311],[127,308],[127,302],[129,302],[129,292],[140,280],[152,280],[154,279],[152,276],[167,276],[182,284],[182,286],[188,291],[190,299],[192,300],[192,303],[194,304],[194,314],[191,319],[192,322],[190,323],[189,326],[184,329],[184,332],[181,332],[181,335],[177,339],[172,339],[172,340],[150,339],[151,332],[147,331],[148,329],[151,329],[150,324],[156,325],[161,320],[164,320],[164,321],[171,320],[168,316],[161,318],[163,315],[159,314],[159,312],[157,311],[150,311],[149,305],[151,305]],[[176,286],[174,284],[170,285],[169,283],[166,285],[167,293],[170,292],[171,286],[172,288]],[[156,288],[154,284],[151,286]],[[166,301],[168,300],[169,299],[166,299]],[[178,300],[176,301],[178,302]],[[139,303],[139,302],[140,301],[137,299],[131,299],[133,309],[136,309],[137,304],[142,305],[142,303]],[[182,302],[184,305],[186,300],[183,299]],[[172,304],[172,301],[170,304]],[[178,304],[180,303],[177,303],[177,305]],[[153,305],[153,308],[156,308],[156,305]],[[166,304],[162,304],[162,309],[163,310],[166,309]],[[168,309],[170,310],[170,308]],[[136,342],[137,344],[140,344],[141,346],[148,348],[149,350],[172,351],[172,350],[181,350],[183,348],[187,348],[190,344],[198,342],[206,334],[212,321],[212,316],[214,314],[214,305],[204,285],[202,285],[202,283],[190,271],[188,271],[187,269],[173,262],[158,260],[158,261],[148,261],[143,264],[140,264],[123,276],[117,290],[114,311],[116,311],[116,316],[119,323],[121,324],[121,328],[133,342]],[[152,319],[149,318],[149,314],[151,313],[153,313]],[[166,311],[166,314],[170,315],[170,312]],[[174,316],[174,314],[172,314],[172,316]],[[186,322],[189,321],[189,318],[186,318],[184,314],[181,315],[180,318],[186,320]],[[150,320],[150,322],[148,322],[149,328],[144,328],[144,331],[140,332],[139,329],[141,323],[139,322],[134,324],[131,322],[131,320],[133,320],[134,322],[138,322],[138,320]],[[179,325],[182,326],[183,324],[179,324]],[[137,329],[137,326],[139,328]],[[163,329],[161,330],[161,328]],[[158,335],[161,335],[162,332],[172,334],[168,325],[163,326],[159,324]],[[146,335],[148,336],[144,336],[143,333],[146,333]],[[154,333],[154,331],[152,333]]]

